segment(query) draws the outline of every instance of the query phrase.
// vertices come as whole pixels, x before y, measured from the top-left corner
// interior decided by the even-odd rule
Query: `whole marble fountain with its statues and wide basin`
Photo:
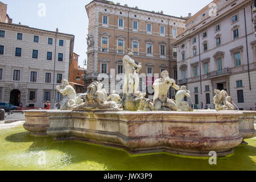
[[[233,153],[245,138],[256,136],[255,111],[237,111],[224,90],[215,90],[216,110],[189,110],[185,87],[162,72],[153,84],[154,100],[138,92],[141,64],[123,58],[125,79],[123,98],[114,92],[108,97],[101,82],[93,81],[84,94],[76,94],[67,80],[57,90],[68,96],[61,110],[25,111],[24,129],[32,135],[48,135],[55,141],[76,140],[126,150],[131,155],[168,152],[185,156],[217,156]],[[176,101],[167,97],[170,87],[179,90]],[[117,101],[119,101],[117,103]]]

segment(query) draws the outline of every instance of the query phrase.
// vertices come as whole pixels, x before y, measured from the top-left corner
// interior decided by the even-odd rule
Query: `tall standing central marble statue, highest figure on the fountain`
[[[133,51],[128,49],[128,55],[123,57],[123,68],[125,70],[123,94],[135,94],[139,86],[138,73],[141,71],[142,65],[141,63],[137,65],[131,57],[133,57]]]

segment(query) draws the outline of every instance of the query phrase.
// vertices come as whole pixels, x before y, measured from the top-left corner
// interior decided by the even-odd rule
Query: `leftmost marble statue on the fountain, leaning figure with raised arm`
[[[77,98],[76,91],[69,85],[68,80],[62,80],[61,85],[56,86],[56,90],[63,96],[68,96],[68,101],[61,106],[60,110],[72,109],[75,105],[81,104],[82,100]]]

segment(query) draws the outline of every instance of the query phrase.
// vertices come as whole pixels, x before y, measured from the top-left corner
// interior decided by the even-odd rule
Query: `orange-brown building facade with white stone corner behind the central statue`
[[[150,86],[155,73],[159,75],[164,70],[170,77],[177,78],[176,48],[173,49],[172,43],[177,35],[183,33],[185,18],[109,1],[92,1],[85,9],[89,18],[86,82],[97,80],[100,73],[122,74],[122,59],[128,48],[133,49],[133,59],[142,63],[140,73],[149,75],[146,79]],[[107,92],[116,89],[122,94],[117,84],[109,84]],[[152,89],[147,90],[147,94],[153,92]]]

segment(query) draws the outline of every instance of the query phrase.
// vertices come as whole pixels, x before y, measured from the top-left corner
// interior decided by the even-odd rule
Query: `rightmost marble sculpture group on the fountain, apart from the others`
[[[214,90],[216,95],[213,97],[213,104],[216,110],[234,110],[232,97],[225,90]]]

